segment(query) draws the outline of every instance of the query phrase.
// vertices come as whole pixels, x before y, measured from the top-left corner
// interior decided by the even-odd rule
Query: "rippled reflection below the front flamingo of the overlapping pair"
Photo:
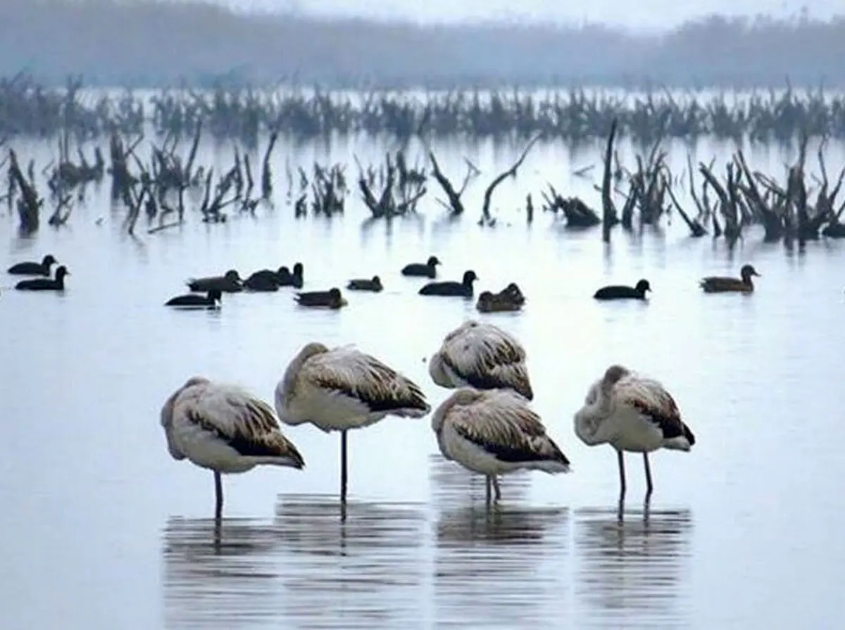
[[[434,551],[436,625],[548,627],[567,588],[566,508],[488,509],[440,515]],[[503,478],[504,479],[504,478]]]

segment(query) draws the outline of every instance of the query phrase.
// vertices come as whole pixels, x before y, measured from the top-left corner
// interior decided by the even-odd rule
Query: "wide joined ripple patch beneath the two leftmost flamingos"
[[[172,519],[167,627],[408,627],[423,616],[425,515],[413,505],[282,496],[270,524]]]

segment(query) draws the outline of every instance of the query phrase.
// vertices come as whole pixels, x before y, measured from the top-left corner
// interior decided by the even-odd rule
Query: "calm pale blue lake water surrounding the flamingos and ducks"
[[[53,145],[17,148],[44,165]],[[332,155],[367,162],[385,148]],[[32,239],[0,217],[3,269],[50,252],[73,274],[61,296],[0,295],[0,627],[838,627],[842,244],[799,253],[749,234],[729,253],[688,239],[675,217],[659,233],[616,231],[608,250],[600,231],[566,231],[539,211],[528,227],[512,209],[528,192],[538,203],[546,180],[599,205],[591,181],[570,175],[597,155],[549,147],[500,188],[494,229],[476,225],[483,189],[519,148],[437,147],[459,181],[464,155],[483,171],[462,221],[443,220],[431,195],[420,218],[392,225],[362,226],[354,195],[343,218],[297,221],[284,205],[283,155],[308,165],[325,149],[280,149],[276,208],[258,218],[209,226],[191,215],[133,240],[107,186],[66,228],[45,225]],[[226,165],[226,150],[206,149],[204,163]],[[724,149],[696,151],[709,160]],[[827,155],[831,170],[845,161],[841,147]],[[750,152],[777,177],[788,159]],[[684,149],[673,160],[682,165]],[[574,473],[506,477],[487,513],[482,479],[444,462],[428,419],[389,418],[350,436],[341,524],[339,437],[288,427],[307,468],[226,478],[215,531],[212,475],[166,452],[166,396],[203,374],[272,400],[292,355],[319,339],[357,343],[438,405],[449,392],[423,358],[476,312],[471,301],[417,296],[421,282],[401,277],[431,253],[444,277],[475,269],[477,291],[512,280],[525,291],[524,312],[483,317],[526,345],[534,406]],[[162,307],[189,276],[297,260],[308,289],[378,273],[385,291],[350,294],[341,312],[303,311],[289,290],[224,296],[221,312]],[[745,262],[763,276],[753,296],[701,294],[702,275]],[[591,300],[599,285],[643,276],[647,304]],[[581,444],[571,420],[612,361],[662,379],[698,438],[691,453],[651,458],[647,513],[641,459],[629,456],[621,523],[613,451]]]

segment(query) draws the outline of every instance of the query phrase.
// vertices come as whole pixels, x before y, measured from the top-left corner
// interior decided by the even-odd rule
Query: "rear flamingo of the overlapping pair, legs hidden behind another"
[[[428,374],[444,388],[510,388],[534,398],[525,349],[492,323],[468,320],[447,334],[428,361]]]

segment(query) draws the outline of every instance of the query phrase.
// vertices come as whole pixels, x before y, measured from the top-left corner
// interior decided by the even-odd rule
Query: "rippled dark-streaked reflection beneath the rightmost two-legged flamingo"
[[[609,627],[684,625],[692,514],[689,509],[575,511],[581,614]]]

